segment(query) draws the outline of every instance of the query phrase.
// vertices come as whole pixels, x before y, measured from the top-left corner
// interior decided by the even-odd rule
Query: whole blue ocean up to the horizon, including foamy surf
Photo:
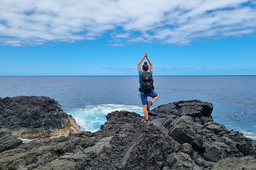
[[[256,139],[256,76],[154,76],[152,106],[199,99],[213,104],[214,122]],[[81,130],[95,132],[112,111],[143,116],[138,76],[0,76],[0,97],[49,96]]]

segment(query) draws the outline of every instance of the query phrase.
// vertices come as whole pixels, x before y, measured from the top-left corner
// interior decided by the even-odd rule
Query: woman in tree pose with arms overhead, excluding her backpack
[[[140,59],[140,62],[138,62],[140,87],[142,86],[141,74],[143,74],[143,72],[144,73],[148,72],[148,63],[147,62],[144,62],[144,65],[142,66],[143,71],[141,71],[141,67],[140,67],[141,62],[143,62],[143,59],[145,59],[145,58],[148,60],[148,63],[150,65],[149,73],[153,74],[153,65],[152,65],[151,61],[148,59],[147,51],[145,51],[144,57],[142,59]],[[148,96],[152,97],[151,101],[148,101]],[[140,99],[141,99],[141,102],[142,102],[142,105],[143,105],[143,113],[144,113],[144,116],[145,116],[144,123],[149,123],[148,111],[149,111],[151,105],[153,105],[153,103],[155,101],[157,101],[158,98],[159,98],[159,96],[157,95],[157,93],[154,90],[151,91],[150,93],[143,93],[142,91],[140,91]]]

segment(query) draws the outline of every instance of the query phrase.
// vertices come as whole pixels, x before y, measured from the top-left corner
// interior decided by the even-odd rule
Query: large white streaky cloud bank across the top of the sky
[[[255,0],[0,0],[0,44],[108,37],[109,44],[187,45],[256,32]]]

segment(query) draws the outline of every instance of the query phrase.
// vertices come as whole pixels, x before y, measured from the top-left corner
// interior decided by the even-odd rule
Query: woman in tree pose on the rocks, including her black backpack
[[[147,59],[148,63],[150,65],[150,69],[148,72],[148,63],[144,62],[143,66],[142,66],[142,70],[141,71],[141,67],[140,64],[143,62],[143,59]],[[154,85],[153,85],[153,65],[151,63],[151,61],[148,59],[148,54],[147,51],[145,51],[144,57],[142,59],[140,59],[140,61],[138,62],[138,72],[139,72],[139,80],[140,80],[140,99],[143,105],[143,113],[145,116],[145,121],[144,123],[149,123],[148,120],[148,111],[150,110],[150,107],[153,105],[153,103],[155,101],[157,101],[157,99],[159,98],[159,96],[157,95],[157,93],[154,91]],[[151,101],[148,101],[148,96],[152,97]]]

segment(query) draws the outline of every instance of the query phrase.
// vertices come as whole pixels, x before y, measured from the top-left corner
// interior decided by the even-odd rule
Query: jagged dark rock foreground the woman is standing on
[[[108,113],[95,133],[36,139],[0,153],[1,170],[256,170],[253,140],[213,122],[212,104],[173,102]]]

